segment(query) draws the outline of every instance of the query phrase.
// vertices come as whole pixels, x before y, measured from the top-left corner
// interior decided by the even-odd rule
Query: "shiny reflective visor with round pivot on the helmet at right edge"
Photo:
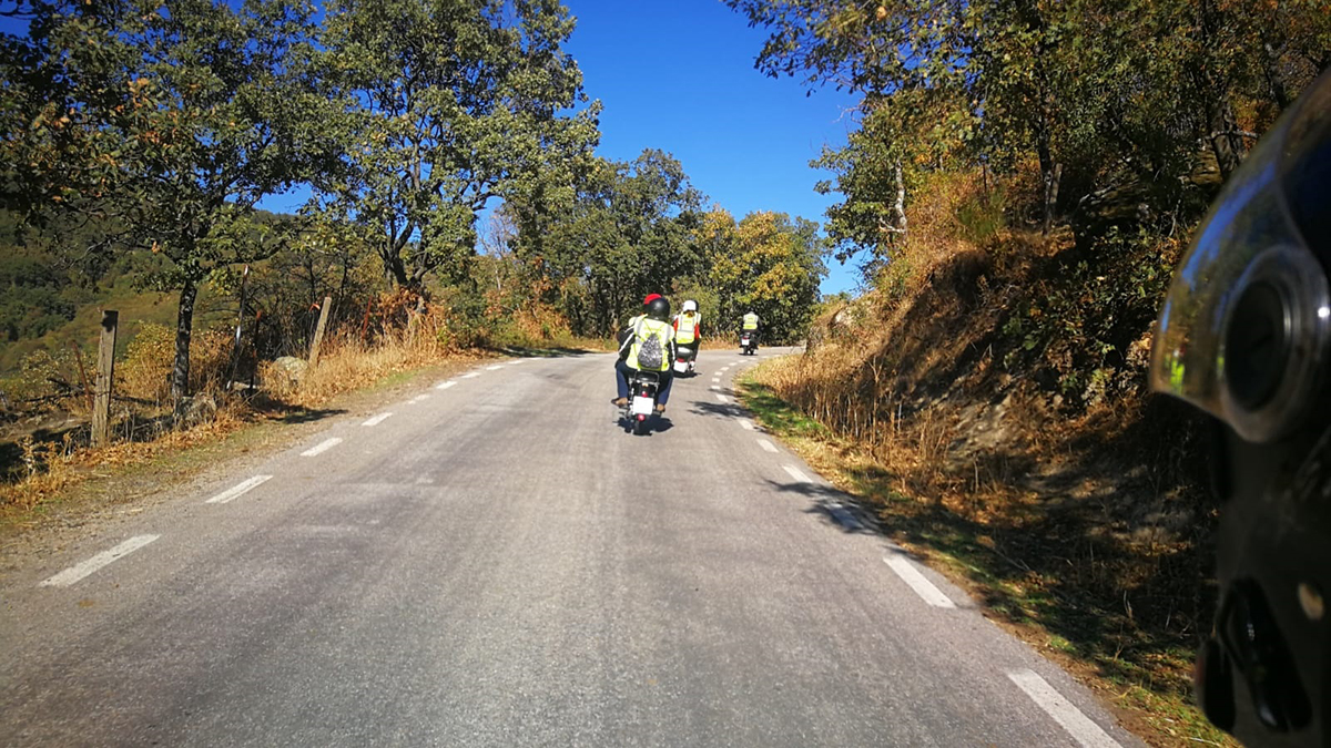
[[[1331,331],[1326,272],[1287,193],[1291,165],[1328,140],[1322,113],[1331,109],[1331,77],[1315,87],[1217,198],[1174,276],[1151,347],[1153,390],[1210,413],[1250,442],[1296,425]]]

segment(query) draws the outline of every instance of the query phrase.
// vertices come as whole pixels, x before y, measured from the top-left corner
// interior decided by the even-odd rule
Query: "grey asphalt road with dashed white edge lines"
[[[647,437],[611,357],[478,366],[105,522],[0,584],[0,744],[1139,744],[753,430],[752,361]]]

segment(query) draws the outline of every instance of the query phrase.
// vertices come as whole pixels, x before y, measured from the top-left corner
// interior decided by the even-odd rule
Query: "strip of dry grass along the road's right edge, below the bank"
[[[1236,745],[1193,705],[1189,642],[1134,619],[1126,594],[1122,602],[1107,600],[1081,586],[1082,571],[1070,560],[1032,560],[1042,552],[1041,532],[1050,531],[1037,520],[1038,499],[1014,499],[1010,487],[977,480],[970,506],[958,511],[941,496],[912,491],[898,465],[885,465],[881,453],[870,457],[779,397],[771,381],[791,361],[747,371],[737,382],[743,405],[872,512],[885,536],[926,559],[981,602],[989,619],[1097,691],[1149,744]],[[893,459],[918,467],[929,455],[901,445]]]

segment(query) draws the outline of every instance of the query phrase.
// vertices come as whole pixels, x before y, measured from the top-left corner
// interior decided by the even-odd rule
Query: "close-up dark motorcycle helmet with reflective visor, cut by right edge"
[[[1150,383],[1209,414],[1223,502],[1206,716],[1331,744],[1331,72],[1247,156],[1174,277]]]

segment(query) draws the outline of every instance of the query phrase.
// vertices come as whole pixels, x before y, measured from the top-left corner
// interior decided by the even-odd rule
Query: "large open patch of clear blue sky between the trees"
[[[720,0],[564,0],[578,17],[568,51],[600,98],[602,157],[672,153],[693,186],[737,218],[779,210],[821,222],[836,196],[809,168],[824,144],[845,144],[853,100],[832,88],[753,69],[767,33]],[[852,266],[829,264],[824,293],[852,289]]]

